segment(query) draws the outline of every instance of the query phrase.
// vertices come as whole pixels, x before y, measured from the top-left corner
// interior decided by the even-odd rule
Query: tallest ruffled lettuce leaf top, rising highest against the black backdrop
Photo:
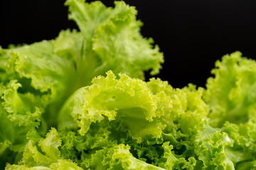
[[[136,20],[134,7],[123,1],[116,1],[114,8],[106,8],[100,1],[89,5],[69,0],[65,4],[70,7],[69,18],[78,23],[85,36],[85,51],[97,56],[94,60],[104,61],[98,69],[112,69],[140,79],[144,79],[144,70],[159,72],[163,56],[159,47],[152,49],[152,39],[146,40],[139,33],[142,23]]]

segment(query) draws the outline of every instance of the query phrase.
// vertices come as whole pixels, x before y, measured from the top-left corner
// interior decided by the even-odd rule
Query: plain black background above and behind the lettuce
[[[89,2],[89,1],[88,1]],[[113,6],[113,1],[102,1]],[[142,35],[164,52],[161,74],[174,87],[205,86],[216,60],[240,50],[256,59],[256,1],[251,0],[132,0]],[[0,0],[0,45],[50,40],[62,29],[77,28],[68,21],[63,0]]]

